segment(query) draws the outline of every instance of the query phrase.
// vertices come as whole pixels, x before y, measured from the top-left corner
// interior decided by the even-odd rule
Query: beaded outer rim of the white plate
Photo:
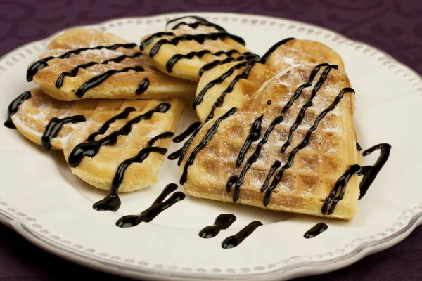
[[[234,18],[240,18],[242,22],[253,22],[252,24],[259,24],[259,25],[271,25],[272,22],[281,22],[283,26],[289,25],[293,28],[303,29],[303,32],[306,30],[314,30],[315,32],[321,32],[326,34],[331,34],[333,37],[331,40],[334,42],[339,41],[344,42],[344,44],[355,44],[357,45],[356,48],[359,46],[359,48],[362,48],[364,53],[370,53],[370,55],[380,55],[381,57],[378,58],[378,60],[383,60],[383,65],[388,66],[390,69],[392,68],[399,68],[397,70],[397,74],[399,72],[405,72],[404,77],[407,77],[408,74],[411,74],[409,81],[411,80],[417,80],[417,82],[413,82],[411,84],[415,91],[418,92],[418,94],[422,94],[422,77],[419,75],[416,71],[412,70],[407,65],[404,65],[403,63],[400,63],[398,60],[393,58],[388,53],[385,53],[384,51],[373,47],[369,44],[365,44],[361,41],[354,41],[352,39],[349,39],[348,37],[345,37],[342,34],[339,34],[337,32],[334,32],[332,30],[328,30],[325,27],[319,27],[317,25],[312,25],[305,22],[300,22],[297,20],[290,20],[286,18],[276,18],[273,16],[267,16],[267,15],[253,15],[253,14],[247,14],[247,13],[212,13],[212,12],[192,12],[192,13],[162,13],[157,15],[149,15],[149,16],[141,16],[141,17],[125,17],[125,18],[114,18],[111,20],[106,20],[103,22],[94,23],[91,25],[77,25],[72,27],[67,27],[63,30],[59,30],[58,32],[54,32],[49,37],[46,37],[45,39],[41,39],[38,41],[32,41],[27,44],[23,44],[21,46],[18,46],[17,48],[14,48],[11,51],[8,51],[8,53],[4,54],[0,58],[0,70],[3,70],[2,64],[6,63],[7,66],[13,66],[13,63],[9,65],[10,61],[7,61],[7,59],[10,57],[13,61],[13,54],[18,53],[19,51],[23,51],[23,49],[28,49],[30,47],[37,50],[39,48],[37,45],[46,46],[48,41],[51,40],[51,38],[56,37],[58,34],[65,30],[69,30],[75,27],[96,27],[100,29],[107,30],[106,26],[113,27],[113,25],[122,25],[122,22],[127,22],[129,24],[136,23],[137,25],[141,25],[141,22],[138,23],[138,21],[143,20],[148,24],[148,20],[154,20],[155,21],[162,21],[165,18],[176,18],[177,16],[181,15],[203,15],[205,17],[211,17],[213,20],[215,18],[221,19],[224,22],[224,19],[230,19],[234,20]],[[284,22],[284,23],[283,23]],[[5,70],[6,71],[6,70]],[[260,273],[260,266],[257,266],[255,268],[250,268],[247,272],[242,272],[241,270],[235,273],[224,273],[221,270],[221,273],[212,272],[212,270],[203,272],[193,272],[193,269],[191,270],[183,270],[181,268],[172,269],[169,267],[166,268],[156,268],[153,267],[153,265],[149,265],[148,263],[145,265],[141,265],[140,263],[135,263],[134,261],[116,261],[115,259],[105,259],[104,256],[98,256],[98,254],[92,254],[90,251],[87,251],[88,249],[85,249],[86,247],[82,247],[81,245],[75,245],[72,244],[70,241],[65,241],[66,243],[59,243],[58,240],[54,240],[51,237],[50,238],[46,236],[46,234],[49,233],[49,230],[45,230],[42,226],[37,224],[35,218],[31,218],[30,216],[27,216],[17,209],[13,208],[11,204],[7,204],[4,202],[4,200],[1,200],[0,198],[0,223],[3,223],[6,226],[11,227],[15,232],[23,236],[26,240],[32,242],[32,244],[36,245],[37,247],[40,247],[41,249],[44,249],[46,251],[51,252],[52,254],[55,254],[56,256],[60,256],[63,259],[68,259],[69,261],[79,263],[82,266],[87,266],[89,268],[94,268],[96,270],[101,270],[103,272],[113,273],[115,275],[120,276],[126,276],[126,277],[147,277],[149,279],[156,279],[156,280],[162,280],[162,278],[171,279],[171,280],[186,280],[186,279],[195,279],[198,280],[198,278],[201,279],[219,279],[219,280],[234,280],[238,278],[245,279],[254,279],[258,275],[260,278],[263,278],[263,280],[280,280],[280,278],[287,278],[287,277],[300,277],[300,276],[306,276],[311,274],[321,274],[330,272],[333,270],[337,270],[339,268],[343,268],[345,266],[349,266],[350,264],[358,261],[359,259],[362,259],[364,256],[368,256],[369,254],[373,254],[376,251],[381,251],[383,249],[387,249],[388,247],[392,247],[393,245],[397,244],[398,242],[404,240],[407,235],[411,233],[411,231],[416,228],[416,226],[419,226],[422,224],[422,203],[419,204],[416,207],[413,207],[411,209],[407,209],[402,213],[402,216],[397,218],[395,220],[395,223],[392,225],[392,227],[385,229],[383,233],[378,233],[376,236],[370,236],[365,237],[364,239],[355,239],[351,243],[345,245],[345,249],[338,249],[335,251],[337,253],[340,251],[342,254],[340,256],[335,256],[335,254],[331,253],[325,253],[322,255],[319,255],[319,261],[312,261],[312,259],[308,259],[305,261],[305,257],[299,257],[299,256],[293,256],[290,257],[290,259],[286,259],[285,264],[286,266],[279,266],[276,270],[271,270],[267,273]],[[406,223],[407,222],[407,223]],[[44,234],[44,235],[43,235]],[[59,237],[58,237],[59,238]],[[79,247],[77,247],[79,246]],[[347,248],[353,249],[353,251],[348,251]],[[346,253],[345,253],[346,252]],[[343,254],[345,253],[345,254]],[[332,256],[334,255],[334,258]],[[312,256],[311,256],[312,257]],[[302,261],[300,261],[302,260]],[[283,262],[283,261],[281,261]],[[280,262],[280,263],[281,263]],[[145,263],[145,262],[144,262]],[[290,264],[289,264],[290,263]],[[328,266],[329,265],[329,266]],[[269,265],[271,266],[271,265]],[[274,266],[276,264],[274,263]],[[310,270],[310,269],[312,270]],[[302,270],[300,270],[302,269]],[[307,270],[304,270],[307,269]],[[299,271],[300,270],[300,271]],[[190,271],[190,272],[189,272]]]

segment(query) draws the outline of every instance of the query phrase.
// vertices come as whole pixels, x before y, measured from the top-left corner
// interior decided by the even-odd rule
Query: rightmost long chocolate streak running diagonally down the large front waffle
[[[316,117],[314,124],[309,128],[302,142],[300,142],[299,145],[293,148],[293,150],[290,152],[290,155],[288,156],[288,160],[286,164],[284,164],[284,166],[281,167],[280,171],[276,174],[273,181],[271,182],[271,185],[267,189],[267,192],[265,193],[264,206],[267,206],[269,204],[271,193],[276,188],[276,186],[280,183],[281,178],[283,178],[284,171],[286,171],[293,165],[293,159],[295,158],[296,153],[298,153],[299,150],[302,150],[303,148],[307,147],[307,145],[309,144],[309,140],[311,139],[312,133],[318,128],[319,122],[321,122],[321,120],[324,119],[324,117],[326,117],[328,112],[331,112],[334,110],[335,106],[338,105],[338,103],[340,103],[340,100],[343,98],[345,93],[354,93],[354,90],[352,88],[345,88],[342,91],[340,91],[340,93],[338,93],[338,96],[335,97],[335,100],[333,101],[333,103],[331,103],[330,106],[328,106]]]

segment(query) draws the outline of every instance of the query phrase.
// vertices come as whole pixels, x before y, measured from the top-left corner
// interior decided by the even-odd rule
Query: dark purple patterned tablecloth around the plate
[[[255,13],[321,25],[381,48],[422,74],[422,0],[0,0],[0,55],[72,25],[182,11]],[[0,281],[81,276],[115,280],[48,254],[0,225]],[[422,228],[391,249],[309,279],[422,280]]]

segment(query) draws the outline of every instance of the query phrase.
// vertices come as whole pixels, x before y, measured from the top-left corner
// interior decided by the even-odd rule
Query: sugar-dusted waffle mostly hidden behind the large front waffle
[[[279,43],[258,62],[227,63],[205,72],[194,103],[200,120],[205,122],[221,116],[231,107],[242,107],[265,81],[291,65],[333,63],[344,69],[340,55],[324,44],[300,39],[285,39]]]

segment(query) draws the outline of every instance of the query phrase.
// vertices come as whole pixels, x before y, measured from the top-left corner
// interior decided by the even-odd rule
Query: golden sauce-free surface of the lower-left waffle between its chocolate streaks
[[[153,110],[158,105],[167,103],[170,108],[165,113],[155,112],[151,119],[144,119],[133,124],[129,135],[117,137],[115,145],[103,145],[94,157],[84,157],[79,166],[72,168],[72,172],[87,183],[96,188],[110,190],[110,184],[116,174],[117,166],[124,160],[137,155],[143,148],[146,148],[148,141],[154,136],[164,132],[174,132],[177,126],[183,102],[177,99],[167,100],[76,100],[63,102],[46,96],[41,89],[32,89],[31,97],[25,100],[19,107],[18,112],[12,115],[13,124],[25,137],[34,143],[41,145],[46,127],[54,117],[63,119],[65,117],[83,115],[86,121],[66,123],[59,128],[58,135],[51,139],[53,148],[63,150],[68,159],[73,148],[79,143],[84,143],[87,138],[98,131],[107,120],[116,115],[122,114],[127,107],[127,117],[111,122],[110,127],[99,133],[94,138],[98,141],[101,138],[110,136],[122,128],[129,120],[145,115],[148,110]],[[171,138],[156,141],[153,146],[167,148]],[[48,149],[48,142],[43,147]],[[146,188],[157,181],[156,174],[160,169],[164,155],[151,152],[141,163],[133,163],[124,172],[124,178],[119,190],[122,192]]]

